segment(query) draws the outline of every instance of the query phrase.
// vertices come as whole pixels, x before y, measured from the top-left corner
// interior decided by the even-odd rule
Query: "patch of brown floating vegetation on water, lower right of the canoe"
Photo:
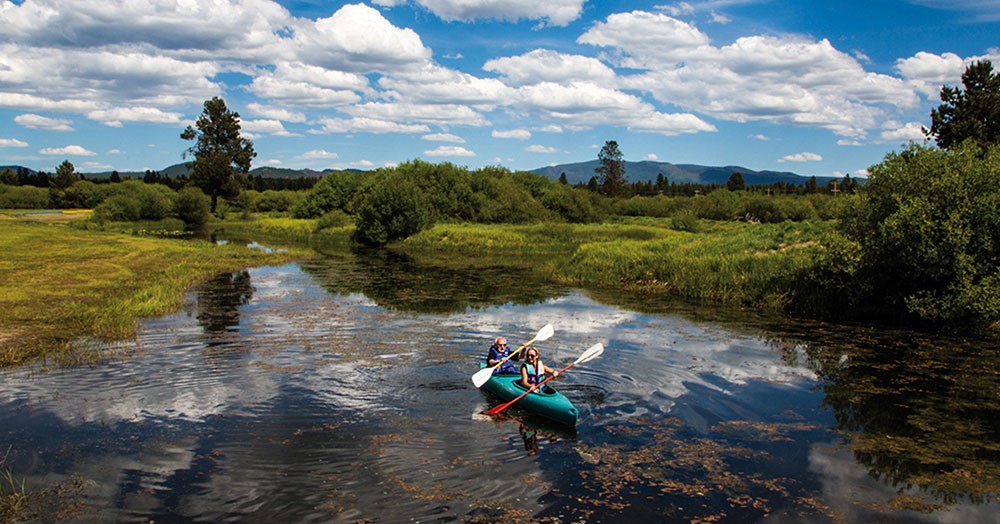
[[[781,442],[810,425],[730,421],[712,428],[713,436],[751,442]],[[584,487],[595,495],[586,504],[608,510],[655,511],[658,518],[686,522],[757,520],[776,507],[795,505],[803,516],[834,512],[807,497],[789,478],[768,476],[778,457],[725,440],[701,437],[679,418],[637,420],[607,428],[609,443],[579,446],[593,465],[583,467]],[[645,442],[645,445],[636,445]],[[726,508],[720,511],[720,508]]]

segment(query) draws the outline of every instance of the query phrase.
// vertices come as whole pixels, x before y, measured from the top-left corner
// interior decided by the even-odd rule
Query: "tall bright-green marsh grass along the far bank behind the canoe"
[[[690,232],[675,229],[669,219],[648,217],[585,225],[438,224],[400,247],[504,257],[548,254],[550,276],[568,283],[781,309],[834,227],[831,221],[701,221]]]

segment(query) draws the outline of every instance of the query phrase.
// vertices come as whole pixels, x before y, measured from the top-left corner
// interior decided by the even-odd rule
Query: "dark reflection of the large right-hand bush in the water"
[[[911,486],[946,504],[1000,493],[1000,350],[949,342],[905,333],[807,350],[856,460],[903,505],[921,504]]]

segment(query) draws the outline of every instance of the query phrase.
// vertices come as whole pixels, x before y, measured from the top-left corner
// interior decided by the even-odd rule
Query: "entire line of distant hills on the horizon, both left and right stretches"
[[[590,181],[590,178],[595,176],[597,173],[594,171],[599,164],[598,160],[590,160],[587,162],[577,162],[574,164],[559,164],[554,166],[540,167],[537,169],[532,169],[532,173],[538,173],[552,180],[558,180],[560,175],[566,174],[566,180],[570,184],[586,184]],[[0,171],[10,168],[15,172],[21,166],[0,166]],[[28,169],[29,172],[34,173],[33,169]],[[53,170],[54,171],[54,170]],[[250,175],[262,178],[300,178],[300,177],[310,177],[310,178],[322,178],[324,175],[333,171],[332,169],[325,169],[323,171],[316,171],[313,169],[285,169],[277,167],[258,167],[250,171]],[[160,171],[159,174],[168,176],[170,178],[177,178],[181,175],[187,176],[191,173],[191,162],[183,162],[180,164],[174,164],[168,166]],[[747,169],[741,166],[700,166],[695,164],[671,164],[669,162],[653,162],[653,161],[642,161],[642,162],[625,162],[625,176],[628,178],[629,182],[645,182],[645,181],[656,181],[657,177],[662,174],[669,182],[675,184],[715,184],[723,185],[729,180],[729,177],[733,173],[739,173],[743,176],[743,181],[747,185],[765,185],[774,184],[778,182],[784,182],[786,184],[801,185],[805,184],[810,177],[799,175],[796,173],[788,171],[754,171],[753,169]],[[120,171],[119,176],[121,177],[131,177],[131,178],[142,178],[145,176],[144,171]],[[101,179],[111,176],[111,172],[100,172],[100,173],[84,173],[86,178],[91,179]],[[836,180],[837,177],[816,177],[816,182],[824,186],[831,180]]]

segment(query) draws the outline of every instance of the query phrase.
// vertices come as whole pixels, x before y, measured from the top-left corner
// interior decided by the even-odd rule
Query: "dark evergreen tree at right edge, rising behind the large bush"
[[[944,149],[973,139],[983,146],[1000,144],[1000,73],[989,60],[969,65],[962,74],[965,90],[941,88],[941,101],[931,111],[931,128],[924,132]]]

